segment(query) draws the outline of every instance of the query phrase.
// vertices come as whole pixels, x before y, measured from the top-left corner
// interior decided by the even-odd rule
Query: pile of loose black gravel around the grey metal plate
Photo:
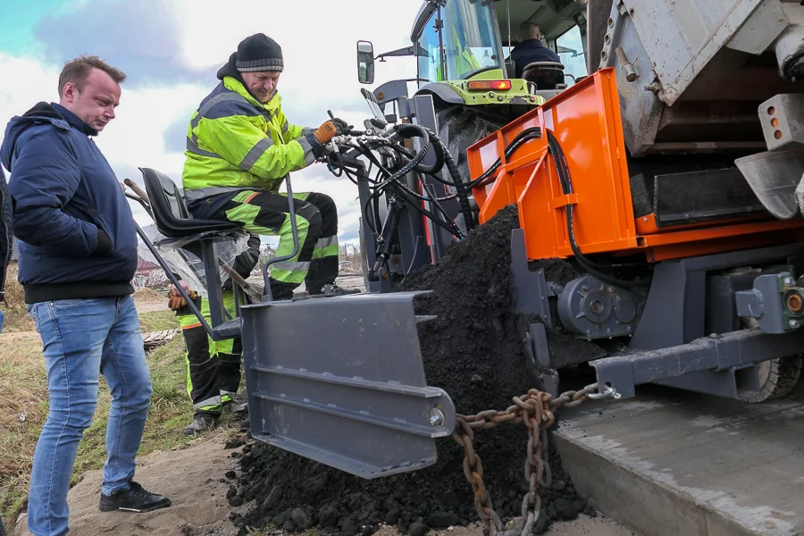
[[[517,226],[515,207],[509,206],[450,247],[438,266],[407,277],[401,285],[402,290],[433,290],[416,298],[417,314],[438,316],[419,325],[424,369],[428,383],[446,390],[461,414],[505,409],[512,397],[532,387],[512,314],[509,244]],[[549,270],[572,274],[568,264],[548,263]],[[521,424],[476,435],[485,482],[504,520],[519,515],[527,490],[526,441]],[[232,520],[241,534],[247,527],[274,524],[287,531],[318,527],[347,536],[368,536],[381,523],[419,536],[429,529],[478,521],[462,469],[463,449],[443,439],[438,455],[438,463],[426,469],[366,481],[256,442],[244,448],[240,475],[228,475],[236,480],[230,504],[250,506],[245,513],[233,513]],[[551,450],[550,456],[557,485],[541,491],[536,533],[544,532],[549,520],[574,519],[586,508],[561,470],[557,453]]]

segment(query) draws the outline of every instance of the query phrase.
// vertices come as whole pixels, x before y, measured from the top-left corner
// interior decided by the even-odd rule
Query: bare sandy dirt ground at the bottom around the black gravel
[[[235,536],[229,521],[230,507],[226,492],[230,481],[225,477],[237,468],[232,457],[237,450],[226,449],[224,433],[216,432],[171,452],[160,452],[139,460],[136,480],[147,490],[172,499],[172,507],[147,514],[102,513],[100,500],[101,471],[87,473],[68,495],[71,536],[116,534],[121,536]],[[466,498],[470,500],[470,498]],[[273,532],[258,532],[272,534]],[[278,532],[281,534],[281,531]],[[24,516],[17,523],[14,536],[29,536]],[[384,526],[379,536],[400,536],[395,527]],[[431,531],[431,536],[480,536],[479,526]],[[582,515],[568,523],[556,523],[549,536],[632,536],[634,533],[599,516]]]

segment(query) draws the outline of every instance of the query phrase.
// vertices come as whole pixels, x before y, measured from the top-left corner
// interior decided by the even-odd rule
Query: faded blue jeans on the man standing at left
[[[151,401],[151,376],[130,297],[69,299],[28,306],[44,346],[50,412],[30,477],[28,528],[34,536],[68,529],[67,490],[79,441],[95,414],[98,377],[112,394],[106,427],[106,495],[129,486]]]

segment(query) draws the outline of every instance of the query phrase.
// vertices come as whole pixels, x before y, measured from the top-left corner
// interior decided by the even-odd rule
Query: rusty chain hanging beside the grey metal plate
[[[548,463],[548,428],[556,422],[555,412],[561,407],[580,406],[588,399],[620,398],[615,389],[606,387],[598,393],[598,384],[593,383],[579,391],[566,391],[558,398],[538,389],[530,389],[522,397],[514,397],[514,404],[505,411],[489,409],[476,415],[456,415],[456,429],[452,438],[464,448],[464,475],[474,491],[474,507],[483,523],[486,536],[527,536],[533,523],[539,518],[541,498],[539,487],[549,487],[552,476]],[[483,480],[481,457],[474,452],[474,432],[488,430],[501,423],[523,423],[528,429],[527,456],[524,476],[528,492],[522,500],[522,526],[505,532],[502,521],[494,510],[489,490]],[[542,478],[545,482],[542,482]]]

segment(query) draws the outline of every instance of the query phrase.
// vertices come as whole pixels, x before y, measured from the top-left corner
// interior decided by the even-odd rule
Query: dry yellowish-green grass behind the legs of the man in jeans
[[[178,327],[170,311],[140,314],[140,321],[146,331]],[[148,355],[148,363],[154,398],[140,456],[169,450],[191,440],[181,433],[192,418],[192,404],[186,392],[184,339],[177,337],[156,348]],[[6,527],[13,530],[13,521],[27,499],[30,465],[47,416],[45,364],[36,331],[0,334],[0,396],[4,407],[0,412],[0,514]],[[105,461],[109,403],[109,389],[101,379],[95,420],[80,443],[73,482],[86,471],[100,468]]]

